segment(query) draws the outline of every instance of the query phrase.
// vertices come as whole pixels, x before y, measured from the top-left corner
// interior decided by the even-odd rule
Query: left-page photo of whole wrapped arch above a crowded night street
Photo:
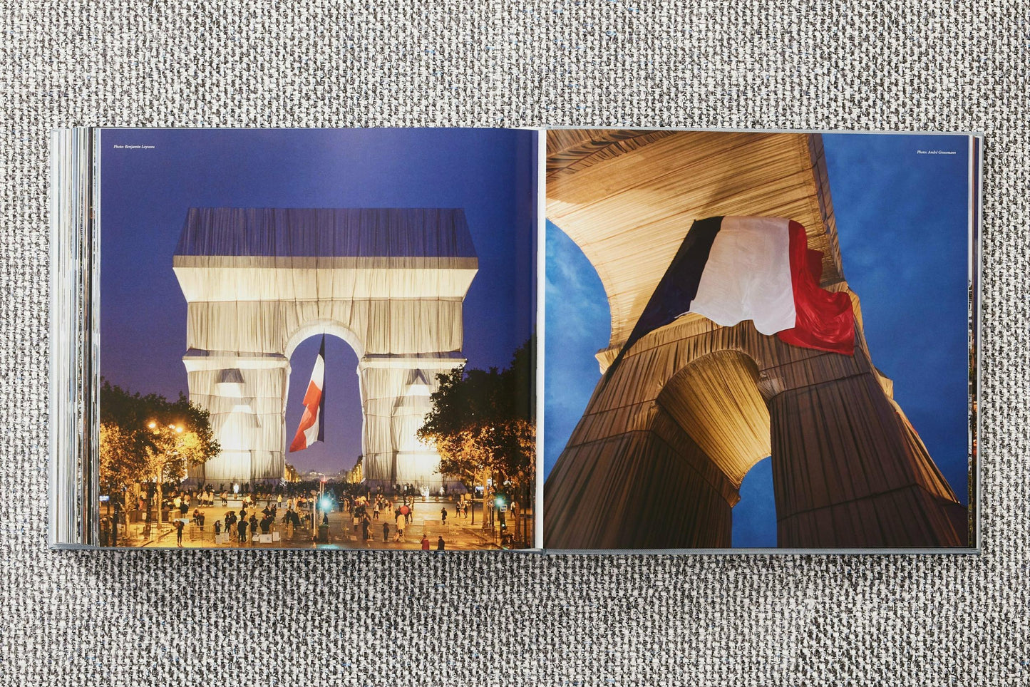
[[[538,135],[98,130],[95,543],[537,546]]]

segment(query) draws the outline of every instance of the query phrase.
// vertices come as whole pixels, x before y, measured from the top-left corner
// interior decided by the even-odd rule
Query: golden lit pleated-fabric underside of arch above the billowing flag
[[[818,134],[553,130],[547,216],[600,276],[621,345],[694,219],[790,217],[844,280]]]

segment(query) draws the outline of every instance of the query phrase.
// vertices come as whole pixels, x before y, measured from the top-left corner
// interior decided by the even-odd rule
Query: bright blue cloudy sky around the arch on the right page
[[[968,503],[968,139],[824,134],[844,272],[873,364],[959,501]],[[926,154],[918,150],[954,151]],[[596,272],[551,222],[546,237],[545,474],[600,374],[611,315]],[[734,547],[776,546],[771,460],[748,473]]]

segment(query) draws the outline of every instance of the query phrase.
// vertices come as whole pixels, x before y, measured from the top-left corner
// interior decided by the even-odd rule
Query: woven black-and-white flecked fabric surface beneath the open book
[[[291,4],[0,4],[0,685],[1030,684],[1030,6]],[[48,551],[76,124],[984,131],[984,554]]]

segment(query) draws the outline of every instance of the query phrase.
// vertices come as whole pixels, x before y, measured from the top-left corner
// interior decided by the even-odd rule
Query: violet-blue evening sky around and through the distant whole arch
[[[114,147],[134,144],[153,147]],[[536,154],[536,133],[516,130],[104,130],[101,374],[169,399],[187,390],[172,254],[190,207],[464,208],[479,257],[464,353],[507,367],[535,321]],[[287,444],[319,340],[290,359]],[[325,357],[325,443],[287,454],[301,471],[335,473],[362,452],[357,357],[335,337]]]

